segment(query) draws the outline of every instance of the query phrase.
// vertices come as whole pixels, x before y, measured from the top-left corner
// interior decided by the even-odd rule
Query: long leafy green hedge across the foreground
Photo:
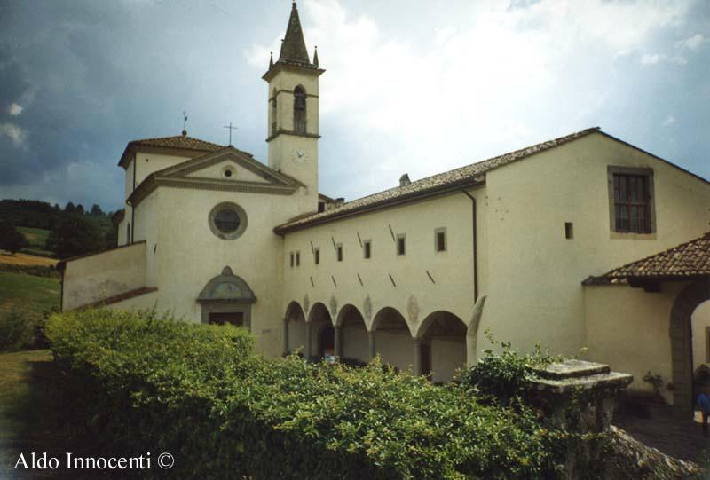
[[[86,435],[114,455],[170,452],[171,477],[547,478],[559,463],[525,409],[376,361],[263,358],[241,329],[144,317],[65,313],[46,331]]]

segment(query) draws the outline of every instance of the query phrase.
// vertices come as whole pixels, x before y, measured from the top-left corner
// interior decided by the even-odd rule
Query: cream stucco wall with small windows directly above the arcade
[[[471,193],[482,198],[485,189]],[[439,227],[447,229],[446,252],[434,248],[434,233]],[[397,255],[392,233],[406,234],[405,256]],[[359,238],[372,241],[371,258],[363,257]],[[343,244],[343,262],[336,261],[334,243]],[[311,245],[320,250],[318,265]],[[301,253],[301,265],[290,267],[290,252],[296,251]],[[281,259],[285,303],[296,301],[303,307],[307,295],[311,305],[321,302],[330,307],[334,299],[337,308],[335,315],[331,311],[333,318],[351,303],[368,328],[377,311],[393,307],[416,332],[432,311],[451,311],[464,321],[470,318],[474,304],[472,262],[471,201],[461,192],[452,193],[288,233]]]

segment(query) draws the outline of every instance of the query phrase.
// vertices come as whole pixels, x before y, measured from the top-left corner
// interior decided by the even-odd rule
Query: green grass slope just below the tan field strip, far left
[[[59,279],[0,271],[0,313],[13,305],[37,313],[59,308]]]

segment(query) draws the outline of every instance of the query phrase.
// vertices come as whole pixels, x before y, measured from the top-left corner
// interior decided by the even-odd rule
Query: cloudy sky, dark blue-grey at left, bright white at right
[[[710,178],[710,1],[303,0],[320,190],[348,200],[601,126]],[[0,0],[0,198],[122,205],[131,139],[266,159],[290,2]]]

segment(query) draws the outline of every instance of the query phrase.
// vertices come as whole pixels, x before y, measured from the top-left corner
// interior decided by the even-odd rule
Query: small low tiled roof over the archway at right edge
[[[627,283],[628,279],[691,279],[710,276],[710,232],[659,254],[589,277],[582,285]]]

